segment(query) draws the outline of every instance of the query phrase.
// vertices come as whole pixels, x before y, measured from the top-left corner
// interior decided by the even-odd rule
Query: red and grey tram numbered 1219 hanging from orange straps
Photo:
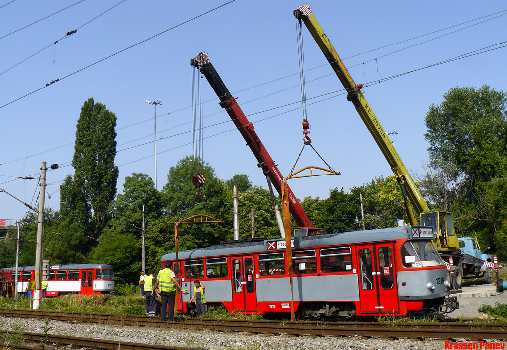
[[[306,236],[296,230],[292,250],[294,309],[299,318],[444,314],[459,308],[450,297],[446,266],[431,227],[408,226]],[[188,295],[206,287],[208,306],[228,312],[289,314],[291,287],[284,240],[249,240],[162,256],[173,262]]]

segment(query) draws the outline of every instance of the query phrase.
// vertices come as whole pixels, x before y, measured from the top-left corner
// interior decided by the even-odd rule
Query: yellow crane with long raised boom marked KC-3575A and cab
[[[293,14],[300,25],[301,22],[306,25],[325,58],[328,59],[329,64],[345,88],[347,100],[352,102],[389,163],[396,181],[400,185],[410,225],[417,225],[416,216],[414,214],[415,211],[420,215],[420,225],[433,227],[433,231],[437,232],[436,239],[433,243],[444,261],[454,265],[453,286],[455,289],[461,288],[463,281],[463,264],[468,264],[469,262],[464,261],[465,256],[460,251],[458,238],[454,230],[452,214],[442,210],[429,210],[426,201],[417,188],[417,184],[410,176],[400,155],[389,140],[387,133],[361,91],[361,89],[363,89],[363,84],[356,84],[352,80],[350,73],[340,59],[340,56],[338,56],[328,36],[315,19],[310,6],[306,4],[295,10]]]

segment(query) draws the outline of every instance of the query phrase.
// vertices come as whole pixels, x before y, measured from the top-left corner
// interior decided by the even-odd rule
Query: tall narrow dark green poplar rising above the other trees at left
[[[62,191],[62,219],[77,223],[98,237],[108,219],[108,208],[116,196],[118,167],[116,157],[116,115],[102,103],[89,98],[81,107],[76,131],[76,145],[72,165],[74,179],[67,177]],[[69,210],[70,209],[70,210]],[[76,210],[83,212],[77,213]]]

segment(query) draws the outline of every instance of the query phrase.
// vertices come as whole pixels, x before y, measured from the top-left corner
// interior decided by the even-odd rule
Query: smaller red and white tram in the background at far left
[[[14,280],[14,267],[0,270],[7,280]],[[28,281],[35,280],[35,266],[18,268],[18,293],[26,292]],[[103,264],[52,265],[49,267],[47,296],[62,294],[108,294],[115,290],[113,266]]]

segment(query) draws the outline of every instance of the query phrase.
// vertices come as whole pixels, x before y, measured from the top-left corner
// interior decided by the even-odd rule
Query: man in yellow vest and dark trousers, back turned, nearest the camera
[[[188,294],[189,291],[183,289],[176,280],[176,275],[171,270],[172,261],[166,261],[165,268],[161,270],[157,276],[157,282],[153,287],[152,296],[155,294],[155,289],[160,288],[162,294],[162,309],[160,310],[160,321],[174,320],[174,300],[176,299],[176,288],[182,291],[183,294]],[[169,306],[169,308],[168,308]]]

